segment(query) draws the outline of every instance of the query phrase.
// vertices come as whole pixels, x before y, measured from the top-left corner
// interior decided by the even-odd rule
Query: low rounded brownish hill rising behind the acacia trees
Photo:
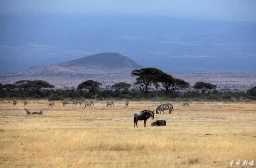
[[[24,76],[77,76],[95,74],[130,74],[140,65],[116,52],[90,55],[61,64],[31,67],[20,73]]]

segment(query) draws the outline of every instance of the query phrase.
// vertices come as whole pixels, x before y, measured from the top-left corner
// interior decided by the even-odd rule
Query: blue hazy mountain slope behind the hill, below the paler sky
[[[102,52],[168,73],[256,72],[256,22],[111,14],[1,14],[0,21],[0,72]]]

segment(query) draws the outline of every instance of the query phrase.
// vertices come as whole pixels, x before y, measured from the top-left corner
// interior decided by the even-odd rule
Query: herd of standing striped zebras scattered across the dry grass
[[[192,103],[191,100],[189,100],[189,101],[184,101],[184,102],[183,102],[183,107],[185,107],[185,105],[186,105],[186,107],[189,107],[189,104],[190,104],[190,103]],[[16,101],[16,100],[13,100],[13,101],[12,101],[12,104],[13,104],[13,106],[16,106],[17,101]],[[26,106],[27,104],[28,104],[28,100],[25,100],[25,101],[24,101],[24,106]],[[63,106],[67,106],[68,101],[67,101],[67,100],[64,100],[64,101],[62,101],[62,104],[63,104]],[[84,108],[87,108],[87,106],[89,106],[89,108],[90,108],[90,107],[92,108],[91,105],[94,106],[94,102],[93,102],[93,101],[81,101],[81,100],[78,101],[78,100],[73,100],[73,101],[72,101],[72,106],[76,106],[76,104],[79,104],[80,106],[81,106],[82,104],[84,104]],[[108,102],[106,102],[106,104],[107,104],[107,107],[108,107],[108,106],[112,107],[112,105],[114,105],[114,102],[113,102],[113,101],[108,101]],[[49,105],[49,107],[50,107],[50,106],[53,107],[53,106],[54,106],[54,101],[49,101],[48,105]],[[125,101],[125,107],[128,108],[128,106],[129,106],[129,101]],[[164,110],[169,110],[169,114],[172,114],[172,111],[174,111],[173,105],[172,105],[172,104],[169,104],[169,103],[167,103],[167,104],[160,104],[160,105],[157,107],[157,109],[156,109],[156,113],[157,113],[157,114],[161,114],[162,111],[163,111],[163,113],[164,113]]]

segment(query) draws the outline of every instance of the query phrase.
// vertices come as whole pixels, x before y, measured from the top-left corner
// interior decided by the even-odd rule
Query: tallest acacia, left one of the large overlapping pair
[[[140,84],[140,90],[144,91],[146,94],[148,93],[148,86],[154,84],[155,87],[158,87],[157,82],[159,78],[165,74],[166,73],[156,68],[142,68],[131,72],[132,76],[138,76],[135,84]]]

